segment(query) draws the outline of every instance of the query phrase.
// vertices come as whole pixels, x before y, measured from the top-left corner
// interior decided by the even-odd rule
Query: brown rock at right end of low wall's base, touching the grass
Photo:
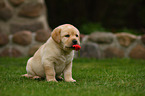
[[[129,56],[134,59],[145,59],[145,47],[140,44],[136,45]]]

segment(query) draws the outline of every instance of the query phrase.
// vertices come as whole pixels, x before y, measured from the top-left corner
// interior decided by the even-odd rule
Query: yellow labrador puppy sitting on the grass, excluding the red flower
[[[80,45],[80,33],[70,24],[58,26],[51,33],[51,37],[31,57],[26,66],[28,78],[45,78],[47,81],[62,79],[76,82],[72,78],[73,45]]]

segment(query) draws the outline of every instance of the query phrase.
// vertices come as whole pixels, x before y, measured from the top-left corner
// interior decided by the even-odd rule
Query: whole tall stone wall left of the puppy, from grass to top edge
[[[44,0],[0,0],[0,56],[32,55],[50,36],[46,16]]]

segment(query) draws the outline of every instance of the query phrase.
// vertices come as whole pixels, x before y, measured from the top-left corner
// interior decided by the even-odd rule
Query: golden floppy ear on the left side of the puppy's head
[[[52,39],[57,43],[60,43],[60,32],[61,32],[60,27],[57,27],[51,33]]]

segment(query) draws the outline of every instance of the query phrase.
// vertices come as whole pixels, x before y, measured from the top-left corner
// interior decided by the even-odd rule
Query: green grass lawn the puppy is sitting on
[[[28,58],[0,58],[0,96],[144,96],[145,60],[75,59],[76,83],[21,77]]]

